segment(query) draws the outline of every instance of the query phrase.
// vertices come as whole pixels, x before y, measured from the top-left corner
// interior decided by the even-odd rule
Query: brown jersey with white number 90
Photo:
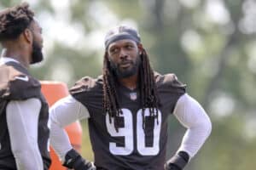
[[[71,88],[73,97],[90,112],[89,131],[96,167],[108,170],[163,170],[166,160],[167,116],[185,85],[174,74],[154,76],[160,98],[158,118],[143,114],[139,89],[119,85],[117,90],[122,114],[116,131],[112,118],[102,108],[102,77],[84,77]]]

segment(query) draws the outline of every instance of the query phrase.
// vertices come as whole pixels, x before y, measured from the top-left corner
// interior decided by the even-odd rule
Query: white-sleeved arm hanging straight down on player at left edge
[[[6,108],[10,144],[19,170],[43,170],[38,148],[39,99],[12,100]]]

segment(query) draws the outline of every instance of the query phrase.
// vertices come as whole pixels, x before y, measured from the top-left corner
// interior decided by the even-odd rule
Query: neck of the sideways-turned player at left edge
[[[21,65],[25,66],[27,69],[29,68],[30,61],[28,57],[26,57],[27,55],[23,54],[19,50],[15,50],[15,48],[3,48],[1,56],[15,59],[19,61]]]

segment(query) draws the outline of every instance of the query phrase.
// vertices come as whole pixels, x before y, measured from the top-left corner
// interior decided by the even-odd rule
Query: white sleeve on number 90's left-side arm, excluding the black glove
[[[71,95],[60,99],[49,110],[50,116],[50,144],[57,155],[64,161],[68,150],[73,147],[70,144],[67,133],[63,127],[83,118],[89,118],[89,111]]]

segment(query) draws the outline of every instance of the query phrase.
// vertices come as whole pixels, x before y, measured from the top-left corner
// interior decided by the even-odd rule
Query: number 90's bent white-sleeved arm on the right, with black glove
[[[180,164],[177,166],[179,167],[177,169],[183,169],[189,161],[189,159],[186,160],[186,157],[191,158],[195,156],[205,143],[212,131],[212,123],[206,111],[189,94],[183,94],[177,100],[173,114],[188,130],[183,136],[183,141],[177,150],[177,155],[172,157],[167,164],[175,165],[175,161],[177,161],[177,164]]]

